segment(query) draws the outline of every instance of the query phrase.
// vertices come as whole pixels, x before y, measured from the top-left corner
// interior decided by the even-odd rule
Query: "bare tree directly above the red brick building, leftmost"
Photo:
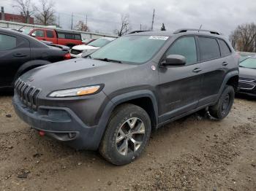
[[[29,23],[29,17],[34,14],[34,6],[31,4],[31,0],[12,0],[12,7],[17,8],[21,15],[26,18],[26,23]]]

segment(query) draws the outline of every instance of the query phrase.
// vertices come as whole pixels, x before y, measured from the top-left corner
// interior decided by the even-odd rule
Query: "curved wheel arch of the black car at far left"
[[[24,73],[24,71],[27,71],[27,69],[29,70],[34,69],[39,66],[47,65],[49,63],[50,63],[49,61],[44,61],[44,60],[34,60],[34,61],[28,61],[26,63],[23,63],[23,65],[20,66],[20,68],[16,72],[12,83],[14,84],[15,80],[18,79],[18,77],[20,77]]]

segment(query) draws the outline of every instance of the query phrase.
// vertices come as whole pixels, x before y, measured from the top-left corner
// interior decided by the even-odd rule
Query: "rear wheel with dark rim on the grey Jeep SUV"
[[[209,113],[217,120],[223,120],[229,114],[235,98],[233,86],[226,85],[220,95],[219,101],[214,106],[209,107]]]

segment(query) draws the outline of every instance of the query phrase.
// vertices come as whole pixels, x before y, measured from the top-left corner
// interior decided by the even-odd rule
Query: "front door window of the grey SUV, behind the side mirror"
[[[165,55],[183,55],[187,59],[187,65],[197,63],[197,48],[193,36],[178,39],[167,50]]]

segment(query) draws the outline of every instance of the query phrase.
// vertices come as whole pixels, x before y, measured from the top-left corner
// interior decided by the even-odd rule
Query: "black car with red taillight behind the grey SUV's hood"
[[[10,88],[26,71],[70,58],[68,50],[51,47],[33,37],[0,28],[0,88]]]

